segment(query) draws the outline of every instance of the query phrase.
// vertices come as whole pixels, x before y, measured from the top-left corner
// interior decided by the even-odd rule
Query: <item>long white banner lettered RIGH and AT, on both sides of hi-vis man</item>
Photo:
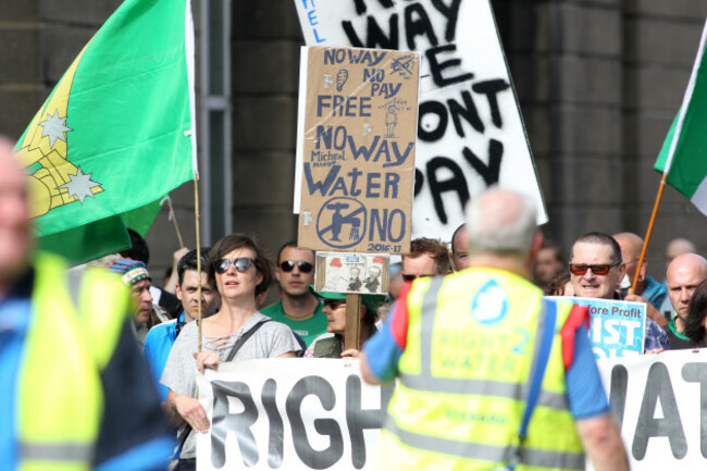
[[[707,467],[707,349],[598,361],[634,471]],[[197,470],[365,470],[392,389],[357,360],[224,363],[198,376]]]

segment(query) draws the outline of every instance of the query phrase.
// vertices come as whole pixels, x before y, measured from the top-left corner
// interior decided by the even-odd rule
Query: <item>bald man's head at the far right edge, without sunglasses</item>
[[[707,278],[707,260],[697,253],[683,253],[668,265],[668,296],[678,318],[684,322],[692,295]]]

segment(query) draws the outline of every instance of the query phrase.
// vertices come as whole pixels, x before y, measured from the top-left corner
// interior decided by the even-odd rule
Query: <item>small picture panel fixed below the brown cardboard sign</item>
[[[381,253],[317,252],[318,292],[387,294],[389,257]]]

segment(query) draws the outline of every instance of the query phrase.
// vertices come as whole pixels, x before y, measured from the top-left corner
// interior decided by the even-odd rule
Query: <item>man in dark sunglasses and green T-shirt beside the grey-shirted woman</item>
[[[314,284],[314,252],[299,250],[294,240],[283,245],[277,252],[275,278],[282,299],[261,312],[289,326],[309,345],[326,332],[322,303],[309,290]]]

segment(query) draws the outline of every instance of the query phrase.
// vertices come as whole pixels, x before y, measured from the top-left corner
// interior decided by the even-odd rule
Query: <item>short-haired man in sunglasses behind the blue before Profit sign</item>
[[[625,275],[627,264],[621,247],[608,234],[584,234],[572,245],[570,281],[574,295],[583,298],[621,299],[617,293]],[[666,333],[650,318],[646,318],[644,351],[656,352],[670,348]]]

